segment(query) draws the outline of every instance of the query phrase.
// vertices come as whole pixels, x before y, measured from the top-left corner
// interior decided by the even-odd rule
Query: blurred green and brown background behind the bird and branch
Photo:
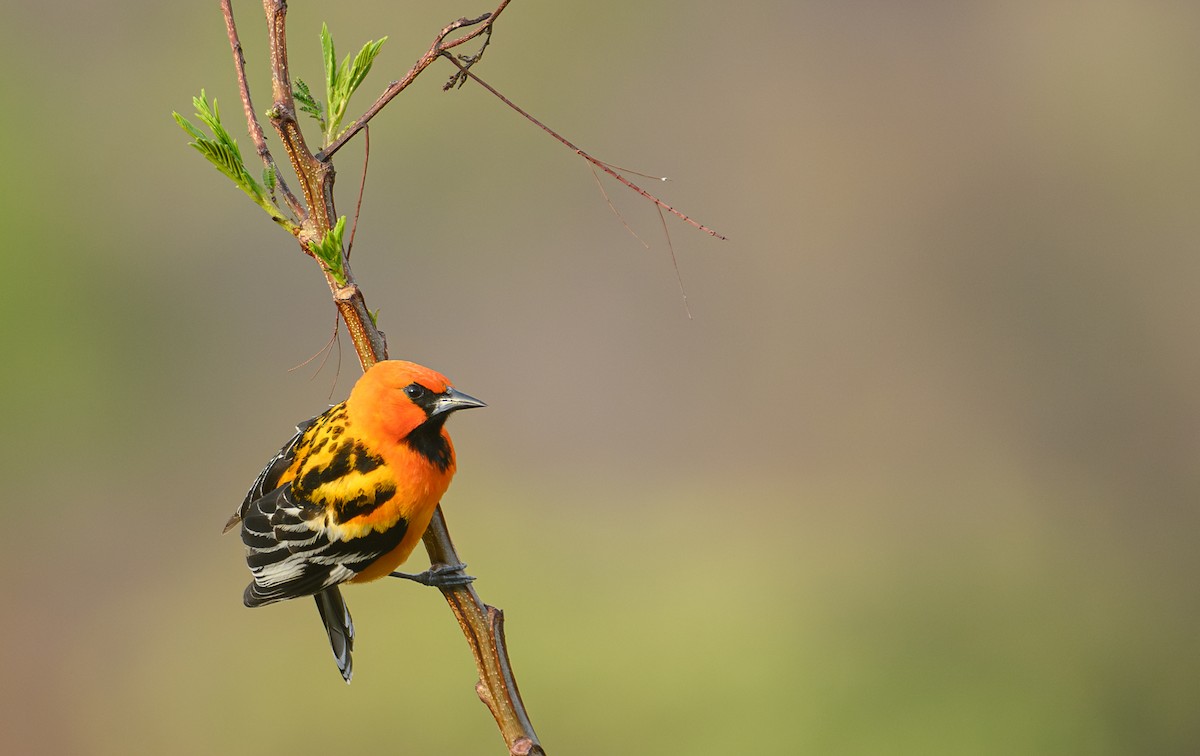
[[[257,106],[260,6],[236,5]],[[486,2],[308,4],[365,108]],[[358,374],[215,1],[8,4],[8,754],[498,754],[440,596],[241,606],[221,526]],[[1200,752],[1200,6],[516,0],[478,86],[372,126],[354,269],[455,418],[445,500],[551,754]],[[350,212],[361,142],[338,158]],[[412,566],[424,566],[424,554]]]

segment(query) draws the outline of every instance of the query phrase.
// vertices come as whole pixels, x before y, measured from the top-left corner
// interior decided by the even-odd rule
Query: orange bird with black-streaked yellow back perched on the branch
[[[486,407],[440,373],[413,362],[376,362],[349,398],[296,426],[226,523],[241,523],[253,581],[246,606],[313,596],[350,682],[354,622],[341,583],[385,575],[426,584],[472,578],[462,565],[392,572],[413,552],[455,473],[445,421]]]

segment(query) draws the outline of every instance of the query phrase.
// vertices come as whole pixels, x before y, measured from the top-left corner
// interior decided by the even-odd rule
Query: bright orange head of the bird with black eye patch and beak
[[[362,373],[348,400],[356,421],[401,440],[419,427],[440,432],[450,413],[486,407],[450,385],[442,373],[403,360],[383,360]]]

